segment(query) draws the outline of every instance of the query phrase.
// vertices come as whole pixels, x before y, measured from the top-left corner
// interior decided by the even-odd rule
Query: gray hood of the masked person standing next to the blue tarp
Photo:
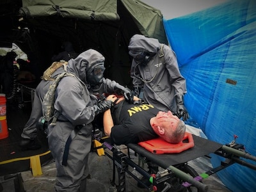
[[[148,38],[144,35],[134,35],[130,39],[128,49],[131,50],[145,50],[151,53],[159,51],[160,43],[156,38]],[[131,52],[129,52],[131,54]],[[132,56],[132,55],[131,55]]]

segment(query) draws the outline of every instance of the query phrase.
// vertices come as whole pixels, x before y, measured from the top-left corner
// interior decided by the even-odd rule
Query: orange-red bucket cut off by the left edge
[[[8,138],[9,132],[6,122],[6,97],[0,94],[0,140]]]

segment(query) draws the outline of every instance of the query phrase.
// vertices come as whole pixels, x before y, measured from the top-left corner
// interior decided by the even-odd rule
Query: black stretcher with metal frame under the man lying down
[[[243,159],[250,159],[256,162],[256,157],[252,156],[248,152],[245,152],[244,146],[236,143],[236,138],[226,145],[221,145],[205,138],[200,138],[191,134],[190,140],[184,140],[186,145],[181,151],[175,152],[163,152],[159,150],[159,146],[153,146],[152,143],[129,143],[127,146],[127,154],[118,150],[115,146],[109,143],[109,138],[95,138],[95,140],[102,143],[105,154],[113,160],[113,179],[111,184],[116,186],[117,191],[125,191],[125,173],[128,173],[142,186],[148,189],[148,191],[191,191],[191,188],[196,188],[198,191],[207,191],[208,186],[204,184],[204,179],[210,175],[227,168],[228,166],[238,163],[243,166],[247,166],[253,170],[256,170],[256,164],[248,163]],[[187,143],[190,143],[189,147]],[[157,142],[156,142],[157,143]],[[193,144],[193,146],[191,145]],[[145,145],[151,145],[147,148]],[[142,147],[143,146],[143,147]],[[156,150],[157,147],[158,152]],[[184,147],[184,146],[183,146]],[[161,147],[160,147],[161,148]],[[146,170],[142,166],[141,161],[136,163],[130,158],[130,150],[134,151],[139,159],[143,159],[147,164],[153,164],[153,169],[157,167],[161,170]],[[188,165],[188,161],[196,159],[198,157],[207,156],[209,154],[216,154],[224,157],[225,161],[220,162],[220,166],[211,168],[205,173],[198,174],[191,166]],[[241,159],[241,157],[243,159]],[[141,179],[131,172],[136,170],[143,175],[143,178],[150,182],[150,186],[145,184]],[[116,173],[118,173],[118,181],[116,182]]]

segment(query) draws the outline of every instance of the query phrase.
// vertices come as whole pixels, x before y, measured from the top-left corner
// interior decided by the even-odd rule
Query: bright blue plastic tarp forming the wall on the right
[[[191,118],[209,140],[225,144],[236,134],[256,156],[256,1],[227,1],[164,20],[164,28],[187,80]],[[212,155],[212,165],[220,159]],[[245,166],[233,164],[218,176],[232,191],[256,189],[256,171]]]

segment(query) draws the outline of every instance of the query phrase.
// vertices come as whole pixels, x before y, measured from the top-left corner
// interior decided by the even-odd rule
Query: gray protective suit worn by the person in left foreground
[[[104,62],[102,54],[93,49],[79,54],[75,60],[69,60],[67,65],[67,71],[76,77],[63,77],[56,88],[54,108],[60,116],[56,125],[48,126],[49,148],[57,168],[56,191],[86,191],[92,122],[97,109],[95,105],[99,99],[86,81],[86,70],[102,61]],[[105,93],[115,93],[117,86],[124,89],[124,86],[115,81],[103,79],[101,88]],[[70,143],[67,166],[63,166],[66,142],[77,126],[80,129]]]

